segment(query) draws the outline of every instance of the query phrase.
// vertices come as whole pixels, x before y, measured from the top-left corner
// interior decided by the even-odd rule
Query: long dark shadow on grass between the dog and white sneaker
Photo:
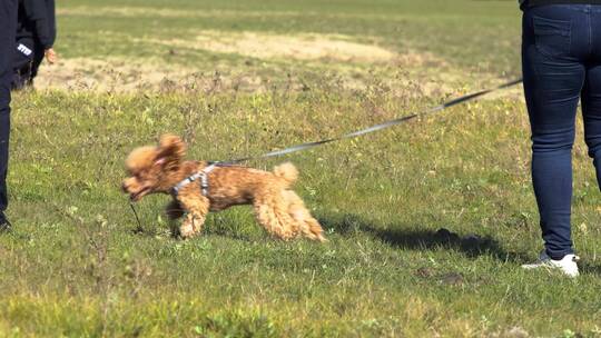
[[[404,250],[446,248],[461,251],[467,257],[491,256],[502,261],[515,264],[523,264],[532,259],[522,252],[506,251],[492,237],[483,237],[477,233],[459,235],[442,227],[439,230],[418,229],[417,226],[408,225],[382,227],[355,215],[325,216],[319,220],[326,229],[334,229],[338,233],[367,233],[391,247]]]

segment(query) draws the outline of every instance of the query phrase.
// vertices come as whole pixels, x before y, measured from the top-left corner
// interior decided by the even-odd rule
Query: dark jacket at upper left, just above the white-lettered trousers
[[[57,20],[55,0],[19,0],[19,22],[17,40],[31,38],[43,49],[55,44]]]

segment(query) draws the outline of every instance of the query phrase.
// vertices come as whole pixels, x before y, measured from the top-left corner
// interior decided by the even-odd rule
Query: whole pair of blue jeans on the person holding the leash
[[[532,182],[546,254],[572,254],[572,146],[578,101],[601,187],[601,6],[525,9],[522,71],[532,132]]]

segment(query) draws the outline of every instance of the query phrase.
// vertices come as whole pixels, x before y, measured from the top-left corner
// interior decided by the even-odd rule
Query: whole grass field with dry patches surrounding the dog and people
[[[513,1],[58,3],[62,57],[13,98],[2,337],[600,337],[601,193],[581,132],[582,276],[541,249],[520,90],[285,160],[329,242],[248,208],[175,239],[119,190],[162,132],[221,160],[337,136],[520,73]]]

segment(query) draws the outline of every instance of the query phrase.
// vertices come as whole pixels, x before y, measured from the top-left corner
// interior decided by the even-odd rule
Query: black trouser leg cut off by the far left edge
[[[17,0],[0,0],[0,212],[8,206],[7,170],[10,136],[10,82],[17,31]]]

